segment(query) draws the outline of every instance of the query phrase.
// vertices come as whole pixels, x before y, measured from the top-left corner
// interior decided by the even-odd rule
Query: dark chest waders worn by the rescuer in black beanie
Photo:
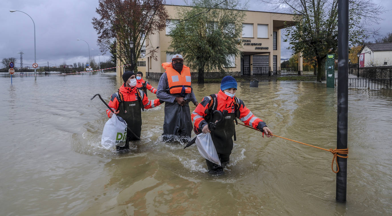
[[[118,110],[120,112],[118,116],[127,122],[127,139],[124,146],[127,149],[129,148],[130,140],[140,140],[140,133],[142,131],[142,109],[144,106],[142,106],[140,95],[135,94],[136,96],[138,97],[137,101],[123,101],[123,96],[119,92],[120,104],[118,105]]]

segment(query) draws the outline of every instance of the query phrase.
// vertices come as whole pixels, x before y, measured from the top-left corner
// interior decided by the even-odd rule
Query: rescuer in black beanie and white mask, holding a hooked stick
[[[142,131],[141,110],[154,108],[163,103],[159,99],[149,100],[142,90],[136,88],[136,76],[133,72],[127,71],[122,75],[124,84],[118,92],[112,94],[109,106],[117,110],[117,115],[127,122],[127,139],[125,146],[116,146],[116,149],[129,149],[129,140],[140,140]],[[106,110],[107,116],[112,117],[113,112]]]

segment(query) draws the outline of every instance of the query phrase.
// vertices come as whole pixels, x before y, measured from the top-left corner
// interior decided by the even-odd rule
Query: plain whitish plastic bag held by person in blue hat
[[[211,161],[212,163],[222,166],[216,153],[214,142],[212,142],[211,133],[200,133],[195,140],[197,149],[203,158]]]

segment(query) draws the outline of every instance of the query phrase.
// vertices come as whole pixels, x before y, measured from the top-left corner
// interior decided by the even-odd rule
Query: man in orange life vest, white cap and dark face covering
[[[191,87],[191,71],[184,65],[180,54],[172,57],[172,62],[162,63],[166,69],[162,74],[156,97],[165,101],[165,120],[163,122],[163,140],[189,139],[192,132],[191,111],[188,103],[199,103]]]

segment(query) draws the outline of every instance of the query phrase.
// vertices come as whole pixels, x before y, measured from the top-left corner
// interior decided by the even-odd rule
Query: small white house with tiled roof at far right
[[[359,67],[392,66],[392,43],[367,43],[359,53]]]

